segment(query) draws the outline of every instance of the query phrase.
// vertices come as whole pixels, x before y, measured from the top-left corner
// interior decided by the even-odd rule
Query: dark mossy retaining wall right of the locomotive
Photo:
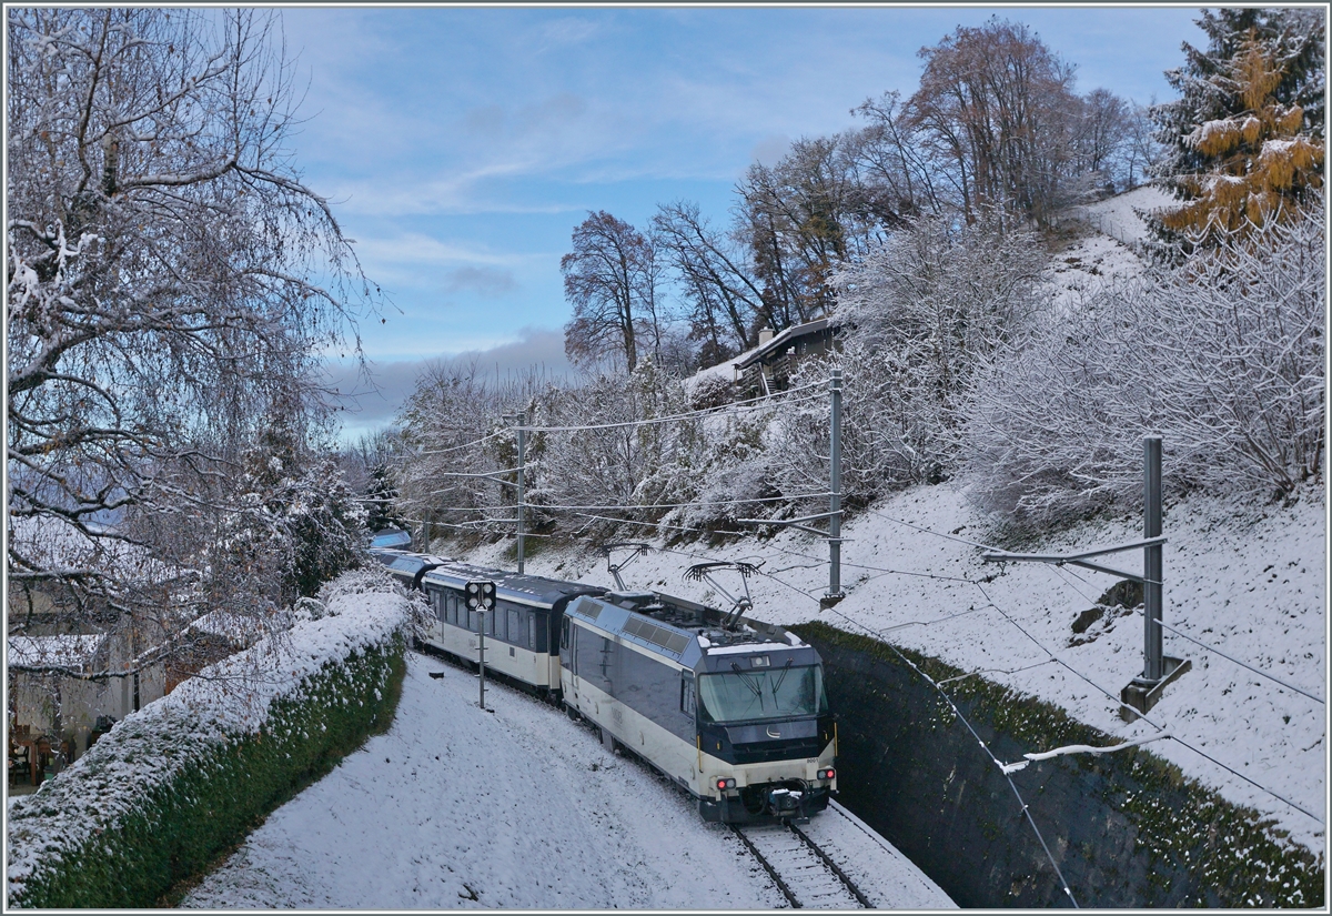
[[[794,627],[839,716],[840,802],[962,907],[1070,907],[1008,780],[886,644]],[[935,680],[964,674],[902,650]],[[947,686],[1000,760],[1115,739],[980,678]],[[1080,907],[1321,907],[1324,863],[1146,748],[1012,774]]]

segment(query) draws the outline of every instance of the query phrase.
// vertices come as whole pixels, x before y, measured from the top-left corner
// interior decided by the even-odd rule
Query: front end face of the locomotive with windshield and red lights
[[[836,724],[813,647],[711,648],[695,667],[693,700],[705,820],[803,819],[827,807]]]

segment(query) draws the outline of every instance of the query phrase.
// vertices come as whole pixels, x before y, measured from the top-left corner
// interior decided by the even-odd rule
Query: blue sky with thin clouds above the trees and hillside
[[[645,225],[690,200],[725,222],[750,162],[854,126],[867,97],[908,96],[916,52],[958,25],[1023,21],[1078,67],[1078,91],[1147,103],[1172,97],[1180,43],[1204,41],[1197,12],[288,7],[297,164],[396,306],[361,329],[381,390],[344,435],[390,422],[430,359],[562,371],[559,257],[587,210]]]

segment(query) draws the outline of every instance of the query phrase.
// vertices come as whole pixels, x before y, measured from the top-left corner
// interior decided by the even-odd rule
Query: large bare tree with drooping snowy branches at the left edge
[[[15,9],[8,53],[11,594],[168,639],[293,535],[242,459],[276,417],[310,455],[310,369],[377,290],[293,165],[273,15]]]

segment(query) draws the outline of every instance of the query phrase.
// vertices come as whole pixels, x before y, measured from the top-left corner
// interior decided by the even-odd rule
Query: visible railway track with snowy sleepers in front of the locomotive
[[[731,827],[793,909],[872,909],[872,904],[795,824]]]

